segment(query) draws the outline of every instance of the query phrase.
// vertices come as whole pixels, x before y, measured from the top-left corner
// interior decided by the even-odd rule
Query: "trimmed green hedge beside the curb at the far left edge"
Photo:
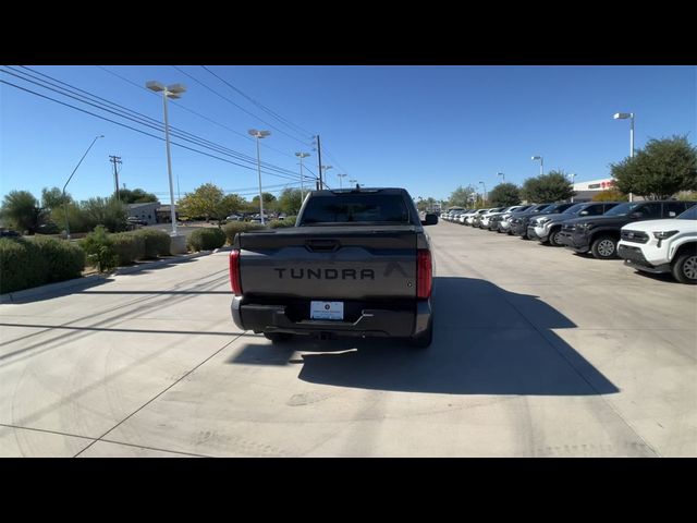
[[[80,278],[85,253],[53,238],[0,238],[0,293]]]

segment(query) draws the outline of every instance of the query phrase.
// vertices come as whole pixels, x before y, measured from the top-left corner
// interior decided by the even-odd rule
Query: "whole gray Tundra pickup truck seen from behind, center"
[[[433,264],[423,219],[403,188],[314,191],[295,227],[237,234],[232,318],[273,342],[292,335],[431,343]]]

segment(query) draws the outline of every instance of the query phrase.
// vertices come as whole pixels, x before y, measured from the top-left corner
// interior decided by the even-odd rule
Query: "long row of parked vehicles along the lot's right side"
[[[587,202],[490,209],[451,208],[447,221],[565,246],[596,258],[621,257],[639,270],[697,283],[697,202]]]

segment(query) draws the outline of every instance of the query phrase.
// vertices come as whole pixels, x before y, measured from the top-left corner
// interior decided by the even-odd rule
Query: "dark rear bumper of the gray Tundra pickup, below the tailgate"
[[[233,296],[232,319],[242,330],[254,332],[286,332],[291,335],[326,337],[395,337],[418,336],[428,328],[432,307],[430,300],[417,301],[415,311],[363,308],[355,321],[303,319],[294,321],[286,314],[286,305],[245,303],[244,296]]]

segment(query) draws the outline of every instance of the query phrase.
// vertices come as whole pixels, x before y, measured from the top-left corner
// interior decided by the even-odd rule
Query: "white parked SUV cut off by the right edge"
[[[627,223],[617,255],[636,269],[672,272],[681,283],[697,283],[697,205],[674,219]]]

